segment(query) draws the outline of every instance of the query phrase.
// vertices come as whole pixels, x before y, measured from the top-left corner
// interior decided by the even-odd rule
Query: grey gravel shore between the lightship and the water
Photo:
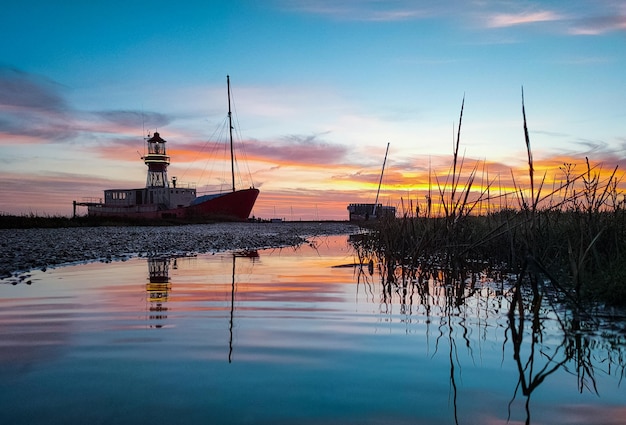
[[[76,262],[295,246],[314,236],[358,230],[342,222],[0,229],[0,279]]]

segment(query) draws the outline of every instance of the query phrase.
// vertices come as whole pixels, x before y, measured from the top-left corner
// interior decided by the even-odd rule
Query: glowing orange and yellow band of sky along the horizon
[[[169,152],[168,152],[169,154]],[[407,169],[406,166],[398,167],[393,164],[393,160],[388,160],[388,168],[386,167],[383,175],[383,182],[380,188],[378,202],[397,208],[398,213],[414,211],[408,211],[409,205],[414,207],[417,205],[423,205],[426,203],[428,196],[432,197],[433,202],[436,205],[440,204],[441,193],[447,196],[451,189],[451,165],[443,165],[447,159],[451,163],[450,158],[430,157],[431,162],[440,162],[439,168],[426,168]],[[173,157],[175,158],[175,157]],[[435,161],[433,161],[435,160]],[[526,160],[526,158],[524,158]],[[602,182],[606,181],[608,176],[613,173],[614,168],[617,167],[616,178],[618,180],[617,188],[620,192],[626,191],[626,181],[624,181],[623,173],[621,169],[626,167],[623,160],[616,159],[614,163],[606,162],[610,158],[605,158],[605,162],[590,161],[592,166],[592,174],[598,173]],[[501,163],[489,163],[484,160],[476,160],[471,158],[462,158],[463,164],[459,165],[457,173],[459,175],[459,191],[466,190],[468,184],[468,178],[470,174],[474,173],[474,181],[471,187],[471,193],[469,200],[473,201],[482,196],[485,202],[487,202],[487,192],[491,193],[491,198],[503,197],[504,195],[515,198],[516,192],[519,190],[526,193],[529,190],[529,176],[528,176],[528,164],[524,161],[520,161],[517,167],[509,167]],[[260,161],[263,165],[263,161]],[[554,157],[549,159],[535,159],[535,185],[539,189],[539,185],[543,182],[541,187],[543,196],[551,193],[555,188],[563,186],[567,177],[564,171],[564,165],[567,164],[571,167],[571,176],[579,177],[586,172],[586,163],[580,158],[567,158],[567,157]],[[138,161],[134,164],[135,167],[141,169],[142,165]],[[252,211],[251,216],[256,218],[282,218],[288,221],[299,220],[345,220],[348,217],[347,206],[350,203],[373,203],[376,193],[378,191],[380,169],[364,171],[357,167],[344,167],[343,173],[333,181],[334,175],[329,174],[326,179],[320,179],[316,182],[315,187],[308,184],[306,179],[298,181],[295,176],[301,174],[300,168],[306,169],[306,166],[299,167],[298,164],[292,164],[284,166],[292,167],[297,172],[291,173],[292,180],[289,182],[269,182],[267,184],[261,183],[255,185],[260,188],[261,195],[257,200],[257,203]],[[310,173],[323,172],[324,167],[309,166]],[[9,183],[15,185],[18,191],[11,194],[12,199],[17,200],[17,204],[28,204],[30,202],[30,194],[27,190],[19,191],[21,187],[30,187],[37,184],[42,190],[48,193],[49,197],[46,199],[45,205],[49,209],[39,210],[37,208],[31,208],[28,211],[3,211],[3,213],[9,214],[31,214],[37,215],[61,215],[69,216],[72,212],[72,201],[81,201],[84,198],[102,198],[102,191],[111,188],[141,188],[145,185],[145,167],[144,172],[141,175],[142,179],[136,182],[130,182],[128,180],[113,180],[102,179],[92,176],[82,176],[80,183],[77,183],[75,174],[61,173],[49,175],[45,180],[23,180],[19,175],[5,175],[5,180],[8,179]],[[196,171],[197,173],[198,171]],[[139,173],[140,174],[140,173]],[[262,174],[255,173],[253,174]],[[304,173],[306,174],[306,173]],[[192,177],[194,175],[193,169],[187,171],[187,176]],[[170,178],[173,175],[170,173]],[[193,180],[193,178],[192,178]],[[133,184],[134,183],[134,184]],[[223,182],[223,187],[228,187],[230,181]],[[199,192],[203,190],[212,189],[213,191],[219,190],[219,184],[214,185],[199,185],[189,183],[188,181],[178,182],[179,185],[190,184],[196,187]],[[23,185],[23,186],[21,186]],[[75,194],[75,190],[81,191],[81,196],[72,198]],[[224,190],[224,189],[222,189]],[[228,189],[226,189],[228,190]],[[482,195],[481,195],[482,194]],[[68,198],[69,197],[69,198]],[[67,200],[69,199],[69,202]],[[492,208],[502,208],[501,204],[493,201]],[[507,204],[511,208],[518,207],[516,201],[508,201]],[[433,205],[434,208],[434,205]],[[80,212],[80,210],[79,210]],[[84,213],[84,212],[83,212]]]

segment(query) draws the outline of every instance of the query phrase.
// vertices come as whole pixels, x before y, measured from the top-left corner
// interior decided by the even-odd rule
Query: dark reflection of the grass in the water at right
[[[374,265],[356,245],[357,285],[365,288],[372,302],[378,294],[382,313],[392,316],[398,306],[402,322],[411,323],[414,317],[424,320],[427,343],[435,354],[446,353],[455,424],[463,422],[459,411],[458,384],[464,368],[460,347],[474,362],[475,354],[480,354],[475,350],[481,351],[483,342],[499,339],[498,332],[494,337],[494,323],[503,336],[501,362],[512,357],[518,376],[511,386],[507,422],[519,416],[514,409],[520,395],[522,420],[532,422],[531,398],[557,371],[575,377],[580,394],[600,396],[598,374],[615,377],[618,388],[621,386],[626,376],[623,311],[603,314],[601,309],[590,312],[578,305],[572,307],[548,277],[533,270],[515,276],[480,264],[474,270],[432,265],[409,268],[384,260]],[[434,341],[428,338],[432,334]],[[612,390],[604,388],[607,391]],[[619,409],[617,412],[621,417]],[[610,423],[622,423],[614,415],[608,416]],[[605,423],[606,418],[586,420]]]

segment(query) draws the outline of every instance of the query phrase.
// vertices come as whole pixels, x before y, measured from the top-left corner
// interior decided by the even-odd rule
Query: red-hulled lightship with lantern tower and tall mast
[[[230,106],[230,78],[228,87],[228,123],[230,126],[230,161],[232,174],[231,190],[198,196],[195,187],[177,184],[176,177],[168,180],[167,167],[170,157],[166,141],[158,132],[146,140],[147,155],[142,156],[148,166],[146,187],[139,189],[107,189],[104,199],[97,201],[74,201],[74,216],[77,206],[86,206],[87,214],[95,217],[126,217],[144,219],[207,219],[215,221],[245,221],[250,216],[259,190],[250,187],[235,188],[233,151],[233,124]]]

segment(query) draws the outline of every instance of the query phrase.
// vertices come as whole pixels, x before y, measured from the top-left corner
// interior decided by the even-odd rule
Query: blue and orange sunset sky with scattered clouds
[[[379,201],[422,202],[463,99],[464,169],[512,187],[522,87],[549,181],[585,157],[626,168],[623,0],[24,0],[2,7],[0,52],[4,214],[69,216],[144,186],[154,131],[170,177],[215,186],[200,148],[226,117],[226,75],[257,217],[347,218],[374,201],[387,143]]]

